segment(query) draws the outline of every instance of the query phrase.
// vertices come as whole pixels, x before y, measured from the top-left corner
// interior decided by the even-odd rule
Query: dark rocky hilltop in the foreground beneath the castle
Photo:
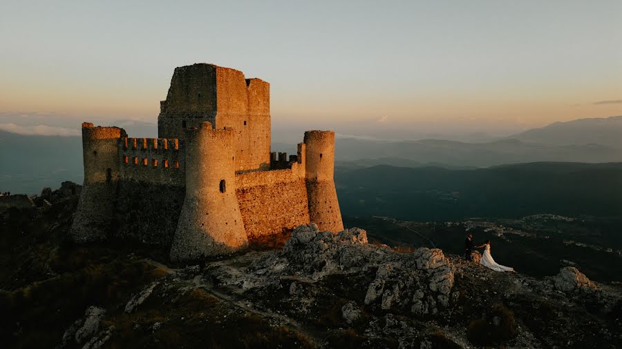
[[[1,213],[8,348],[622,346],[622,287],[573,267],[539,279],[498,273],[314,224],[275,248],[171,265],[150,246],[74,245],[77,197],[61,193]]]

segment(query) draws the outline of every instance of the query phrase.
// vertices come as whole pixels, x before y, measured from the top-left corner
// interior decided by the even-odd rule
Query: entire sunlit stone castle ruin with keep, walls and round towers
[[[301,224],[343,230],[334,132],[270,152],[270,84],[212,64],[176,68],[158,138],[82,123],[84,188],[71,235],[170,246],[171,259],[221,255]]]

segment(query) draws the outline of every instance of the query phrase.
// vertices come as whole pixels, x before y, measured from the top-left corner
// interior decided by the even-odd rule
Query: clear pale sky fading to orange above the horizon
[[[197,62],[269,81],[273,128],[509,133],[621,115],[621,18],[607,0],[0,0],[0,124],[156,122],[173,69]]]

